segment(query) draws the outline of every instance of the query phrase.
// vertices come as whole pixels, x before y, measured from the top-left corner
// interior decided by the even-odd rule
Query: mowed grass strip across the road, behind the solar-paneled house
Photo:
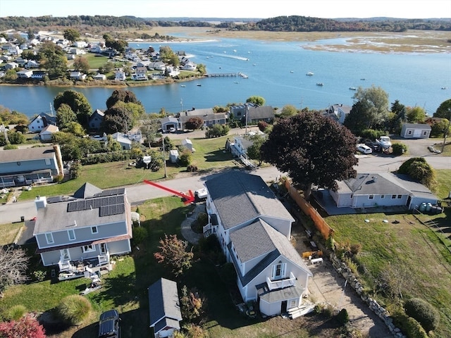
[[[214,168],[232,168],[237,165],[230,152],[225,151],[227,136],[216,139],[194,138],[191,139],[194,146],[192,154],[192,164],[197,165],[199,171],[206,171]],[[180,139],[174,140],[175,146],[181,144]],[[166,159],[168,154],[166,152]],[[139,184],[143,180],[163,180],[164,169],[157,172],[135,168],[129,163],[134,160],[98,163],[93,165],[83,165],[80,177],[75,180],[68,180],[58,184],[50,184],[41,187],[33,187],[30,191],[20,194],[20,200],[35,199],[36,196],[58,196],[70,195],[75,192],[85,182],[94,184],[100,189],[119,187],[129,184]],[[186,172],[186,167],[170,163],[167,161],[168,178],[174,178],[179,173]]]

